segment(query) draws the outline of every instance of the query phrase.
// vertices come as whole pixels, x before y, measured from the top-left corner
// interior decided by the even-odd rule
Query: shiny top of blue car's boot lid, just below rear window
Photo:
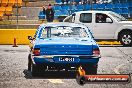
[[[47,39],[36,40],[36,45],[47,45],[47,44],[92,45],[93,39],[90,39],[90,38],[47,38]]]

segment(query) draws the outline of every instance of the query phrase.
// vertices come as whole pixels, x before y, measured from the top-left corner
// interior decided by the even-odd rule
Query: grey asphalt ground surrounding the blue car
[[[132,74],[132,47],[101,46],[100,50],[99,74]],[[34,78],[27,71],[28,54],[27,45],[0,45],[0,88],[132,88],[132,82],[80,86],[75,79]]]

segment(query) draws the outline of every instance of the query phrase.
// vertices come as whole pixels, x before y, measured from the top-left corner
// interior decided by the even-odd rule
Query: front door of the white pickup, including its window
[[[111,17],[106,14],[95,13],[95,24],[93,24],[95,39],[113,39],[117,28],[118,24]]]

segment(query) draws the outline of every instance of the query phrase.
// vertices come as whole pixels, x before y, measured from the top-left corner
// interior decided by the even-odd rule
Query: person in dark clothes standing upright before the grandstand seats
[[[51,4],[48,5],[48,7],[45,11],[45,14],[46,14],[47,22],[53,22],[53,20],[54,20],[54,10],[53,10]]]

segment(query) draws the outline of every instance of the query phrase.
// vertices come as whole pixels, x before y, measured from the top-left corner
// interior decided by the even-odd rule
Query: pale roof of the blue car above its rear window
[[[51,26],[51,27],[57,27],[57,26],[70,26],[70,27],[86,27],[83,24],[77,24],[77,23],[68,23],[68,22],[51,22],[51,23],[44,23],[41,26]]]

